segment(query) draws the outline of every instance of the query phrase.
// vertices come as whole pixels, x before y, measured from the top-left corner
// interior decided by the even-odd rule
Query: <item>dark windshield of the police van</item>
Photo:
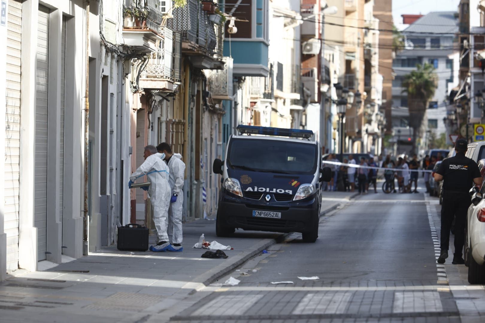
[[[314,174],[317,161],[317,145],[283,140],[234,138],[227,154],[230,169],[282,174]]]

